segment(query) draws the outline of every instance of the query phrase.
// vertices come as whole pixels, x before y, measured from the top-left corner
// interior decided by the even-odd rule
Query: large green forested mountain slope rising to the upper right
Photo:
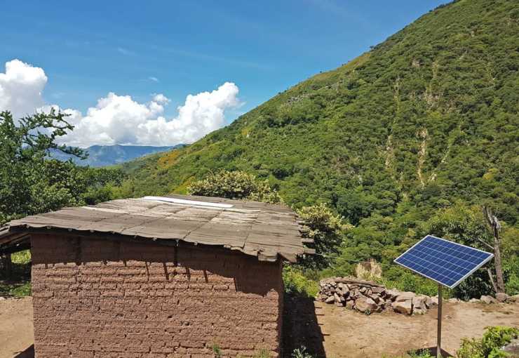
[[[518,1],[440,6],[193,145],[128,166],[121,192],[184,192],[210,171],[254,173],[288,204],[326,202],[356,225],[342,258],[386,263],[443,208],[486,204],[513,227],[518,44]]]

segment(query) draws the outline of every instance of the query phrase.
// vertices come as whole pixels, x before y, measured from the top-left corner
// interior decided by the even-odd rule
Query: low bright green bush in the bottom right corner
[[[458,358],[500,358],[507,357],[501,347],[517,338],[519,329],[505,326],[487,327],[483,338],[464,338],[456,352]]]

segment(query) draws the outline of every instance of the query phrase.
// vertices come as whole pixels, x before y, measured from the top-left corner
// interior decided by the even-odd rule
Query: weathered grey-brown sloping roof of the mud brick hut
[[[297,256],[313,253],[304,247],[290,208],[258,201],[170,195],[63,208],[0,228],[0,250],[2,237],[41,228],[224,246],[260,260],[277,260],[279,255],[295,262]]]

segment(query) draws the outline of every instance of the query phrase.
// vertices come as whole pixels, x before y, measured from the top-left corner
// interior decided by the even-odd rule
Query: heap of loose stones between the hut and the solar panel
[[[318,300],[365,314],[384,310],[403,314],[424,314],[429,308],[438,305],[438,297],[386,289],[376,282],[351,277],[323,279],[319,286],[321,290],[317,296]]]

